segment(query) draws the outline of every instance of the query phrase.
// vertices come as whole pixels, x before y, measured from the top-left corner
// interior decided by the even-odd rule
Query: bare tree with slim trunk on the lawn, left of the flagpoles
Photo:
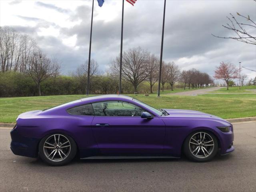
[[[29,58],[25,73],[36,83],[38,95],[41,96],[41,83],[53,73],[51,60],[40,50],[34,52]]]

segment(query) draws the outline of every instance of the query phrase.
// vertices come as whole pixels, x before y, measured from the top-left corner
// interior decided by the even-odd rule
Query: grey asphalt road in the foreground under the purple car
[[[74,160],[50,167],[15,156],[0,128],[0,191],[255,192],[256,122],[234,124],[235,151],[207,163],[182,159]]]

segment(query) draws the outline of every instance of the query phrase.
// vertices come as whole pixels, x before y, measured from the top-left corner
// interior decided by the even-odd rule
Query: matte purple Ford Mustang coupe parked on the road
[[[234,150],[232,124],[192,110],[155,109],[104,95],[20,114],[11,131],[16,155],[64,165],[88,158],[179,158],[205,162]]]

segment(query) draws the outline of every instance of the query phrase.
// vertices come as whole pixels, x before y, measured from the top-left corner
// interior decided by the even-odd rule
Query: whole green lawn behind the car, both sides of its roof
[[[219,94],[214,94],[219,95]],[[224,95],[224,94],[221,94]],[[226,95],[226,94],[225,94]],[[130,95],[133,96],[133,95]],[[42,110],[58,104],[86,97],[85,95],[38,96],[0,98],[0,122],[15,122],[22,112]],[[134,98],[155,108],[174,108],[199,110],[222,118],[238,118],[256,116],[256,100],[252,98],[225,98],[215,96],[174,96],[164,94],[138,95]]]

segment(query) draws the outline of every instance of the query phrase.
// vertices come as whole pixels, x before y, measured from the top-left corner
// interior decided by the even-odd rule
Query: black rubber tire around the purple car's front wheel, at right
[[[209,138],[212,138],[212,142],[209,142],[210,141],[210,139],[209,139],[208,141],[206,140],[206,144],[203,144],[201,141],[197,140],[197,142],[196,142],[195,140],[193,140],[193,139],[196,139],[196,136],[200,135],[200,133],[202,133],[202,135],[204,135],[204,133],[205,133],[206,136],[210,136]],[[192,139],[192,137],[193,137],[193,139]],[[190,143],[191,141],[198,145],[194,145],[194,144]],[[212,146],[204,146],[204,145],[212,145],[212,144],[214,144],[213,148],[212,148]],[[207,152],[205,149],[207,149]],[[208,152],[208,149],[209,149],[209,152]],[[193,154],[192,152],[194,150],[196,150],[196,151]],[[184,141],[183,152],[188,159],[190,159],[194,162],[210,161],[214,158],[214,156],[216,156],[216,154],[218,152],[218,140],[217,140],[216,136],[214,134],[212,134],[212,132],[209,132],[206,130],[200,130],[200,131],[193,132],[193,133],[189,134],[188,137],[186,138],[186,140]],[[196,156],[196,152],[198,152],[197,156]],[[198,157],[198,156],[200,156],[200,157]]]

